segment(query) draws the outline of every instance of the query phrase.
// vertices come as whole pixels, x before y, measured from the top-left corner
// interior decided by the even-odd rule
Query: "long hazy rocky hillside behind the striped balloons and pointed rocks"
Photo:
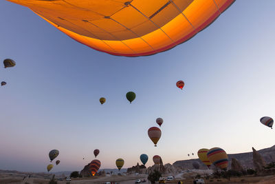
[[[265,148],[263,150],[259,150],[258,152],[263,157],[265,163],[271,163],[275,161],[275,145],[269,148]],[[245,169],[254,168],[253,152],[240,153],[240,154],[228,154],[228,157],[230,161],[230,163],[228,164],[229,169],[231,167],[232,158],[237,159]],[[200,169],[207,169],[207,167],[199,159],[176,161],[175,163],[173,163],[173,165],[176,167],[180,167],[181,169],[190,170],[190,169],[194,169],[194,167],[192,166],[192,163],[194,161],[197,161],[199,163]],[[212,167],[213,166],[211,166],[210,168]]]

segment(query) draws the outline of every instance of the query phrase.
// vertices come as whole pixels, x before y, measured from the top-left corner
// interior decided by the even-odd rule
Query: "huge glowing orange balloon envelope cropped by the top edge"
[[[8,1],[27,6],[55,28],[90,48],[126,57],[156,54],[187,41],[234,2]]]

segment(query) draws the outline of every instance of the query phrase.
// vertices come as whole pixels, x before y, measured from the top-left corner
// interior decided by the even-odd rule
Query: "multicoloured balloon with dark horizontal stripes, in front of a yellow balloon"
[[[213,163],[216,167],[219,167],[221,170],[226,170],[228,167],[228,154],[219,148],[213,147],[208,150],[207,157],[211,163]]]

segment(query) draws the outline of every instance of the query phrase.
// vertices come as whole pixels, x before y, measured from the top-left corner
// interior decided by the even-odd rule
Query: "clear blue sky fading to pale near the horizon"
[[[275,144],[261,116],[274,116],[275,1],[236,1],[208,28],[150,57],[92,50],[23,6],[0,1],[0,169],[82,170],[98,148],[101,168],[189,159],[202,147],[231,153]],[[175,83],[183,80],[184,90]],[[137,94],[130,105],[128,91]],[[100,105],[99,98],[107,102]],[[162,117],[154,147],[147,130]],[[83,161],[85,157],[85,161]]]

